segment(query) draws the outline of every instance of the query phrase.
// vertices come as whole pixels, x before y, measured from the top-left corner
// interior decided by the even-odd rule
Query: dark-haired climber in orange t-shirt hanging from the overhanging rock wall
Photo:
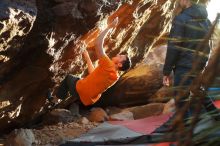
[[[104,91],[116,83],[119,78],[118,71],[125,71],[130,68],[131,62],[127,55],[117,54],[110,59],[103,48],[105,37],[117,23],[118,18],[108,25],[95,40],[98,66],[94,68],[89,54],[85,50],[83,56],[88,65],[89,75],[85,78],[79,78],[68,74],[58,87],[57,98],[65,99],[70,93],[72,98],[80,99],[85,106],[92,105],[99,100]],[[48,97],[50,101],[52,96]]]

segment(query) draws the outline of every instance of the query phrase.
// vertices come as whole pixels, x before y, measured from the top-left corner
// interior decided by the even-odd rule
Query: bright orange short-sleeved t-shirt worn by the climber
[[[87,77],[76,83],[76,90],[84,105],[94,104],[101,94],[118,80],[118,72],[108,56],[99,59],[99,65]]]

